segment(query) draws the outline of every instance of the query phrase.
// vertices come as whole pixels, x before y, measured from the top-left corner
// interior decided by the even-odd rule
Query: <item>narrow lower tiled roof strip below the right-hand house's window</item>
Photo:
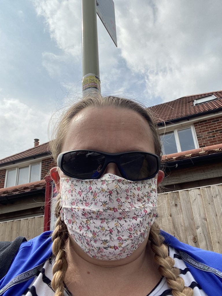
[[[222,144],[216,144],[216,145],[192,149],[192,150],[188,150],[188,151],[163,155],[161,162],[168,163],[168,162],[174,161],[174,160],[181,160],[181,159],[186,159],[186,158],[209,155],[212,153],[222,153]]]

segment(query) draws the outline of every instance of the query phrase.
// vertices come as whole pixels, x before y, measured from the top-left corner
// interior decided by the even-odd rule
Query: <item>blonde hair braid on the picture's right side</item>
[[[179,276],[179,268],[174,267],[174,259],[168,256],[167,247],[163,244],[164,238],[160,234],[160,227],[156,222],[150,228],[149,240],[151,249],[155,253],[155,261],[159,265],[160,275],[166,277],[173,296],[193,296],[193,289],[184,285],[184,279]]]

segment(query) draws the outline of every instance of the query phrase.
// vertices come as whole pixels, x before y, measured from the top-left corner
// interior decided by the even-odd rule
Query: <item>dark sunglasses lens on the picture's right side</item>
[[[129,153],[120,157],[120,165],[125,174],[124,178],[129,180],[145,179],[157,171],[157,158],[146,153]]]

